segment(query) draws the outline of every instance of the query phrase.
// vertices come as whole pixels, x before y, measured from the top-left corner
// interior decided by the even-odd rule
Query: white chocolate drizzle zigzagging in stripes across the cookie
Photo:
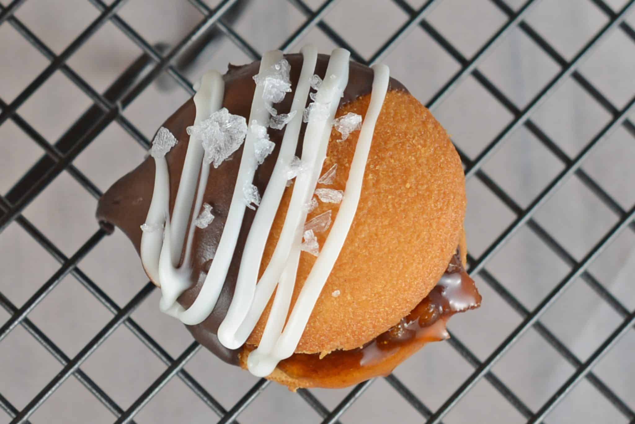
[[[389,83],[388,68],[385,65],[374,66],[370,104],[359,133],[340,209],[295,306],[289,313],[298,261],[302,251],[302,236],[309,212],[307,205],[314,202],[313,195],[326,158],[335,113],[348,83],[350,57],[347,50],[342,48],[333,50],[326,69],[326,75],[329,78],[324,78],[318,86],[314,76],[317,51],[313,46],[307,45],[301,52],[302,70],[293,95],[287,118],[289,121],[286,124],[276,165],[244,245],[234,296],[218,328],[218,339],[224,346],[231,349],[241,347],[255,328],[277,287],[258,348],[250,353],[247,360],[249,370],[257,376],[267,376],[280,360],[293,354],[326,279],[337,261],[358,207],[375,124],[384,104]],[[282,58],[281,51],[265,53],[260,63],[259,74],[265,76]],[[305,109],[311,88],[317,88],[318,91],[311,96],[314,101]],[[250,126],[255,124],[267,127],[270,121],[269,111],[273,106],[270,101],[263,99],[262,93],[263,87],[257,85],[247,120]],[[196,104],[194,125],[218,111],[222,106],[223,97],[222,76],[216,71],[207,72],[201,78],[197,93],[194,95]],[[259,267],[255,264],[259,265],[262,261],[267,236],[287,186],[290,167],[297,165],[298,158],[295,158],[295,151],[303,116],[308,117],[308,123],[300,158],[302,171],[295,176],[283,228],[271,260],[258,280]],[[254,154],[255,138],[253,131],[247,132],[236,186],[215,257],[211,261],[211,267],[201,291],[187,310],[177,303],[177,298],[191,284],[192,239],[196,229],[197,214],[203,205],[203,194],[208,184],[210,167],[203,161],[202,140],[196,135],[190,136],[173,216],[170,218],[168,163],[164,156],[154,157],[156,165],[154,191],[144,225],[146,228],[159,229],[164,226],[164,231],[144,231],[141,240],[141,258],[149,277],[161,287],[162,297],[159,304],[161,310],[179,318],[184,324],[199,324],[210,315],[227,277],[246,208],[243,188],[252,184],[258,165]],[[334,174],[335,169],[331,168],[331,170]],[[327,174],[331,174],[331,170]],[[327,184],[330,182],[332,181],[328,181]],[[328,221],[330,223],[330,214]],[[184,245],[184,259],[181,262]],[[336,292],[339,294],[339,291]],[[333,296],[337,296],[335,292]]]

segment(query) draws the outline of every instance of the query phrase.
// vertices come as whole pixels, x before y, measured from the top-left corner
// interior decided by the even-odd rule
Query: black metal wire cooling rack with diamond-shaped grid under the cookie
[[[224,407],[199,384],[194,377],[192,377],[183,368],[191,359],[194,354],[201,347],[198,343],[191,343],[184,352],[177,358],[171,357],[164,348],[157,343],[147,332],[140,327],[140,325],[130,318],[130,314],[137,306],[149,296],[155,287],[150,282],[144,285],[144,287],[137,292],[137,294],[130,299],[123,307],[117,306],[117,304],[105,294],[99,285],[88,278],[83,271],[78,268],[78,264],[91,249],[93,249],[104,238],[105,233],[102,229],[95,232],[71,257],[65,256],[58,247],[48,240],[43,233],[41,233],[36,226],[34,226],[28,219],[22,215],[22,211],[63,171],[67,171],[77,182],[83,186],[88,193],[95,198],[99,198],[102,194],[100,190],[88,179],[81,171],[79,171],[72,161],[81,153],[102,130],[112,121],[116,121],[121,128],[128,132],[133,139],[137,140],[139,144],[144,147],[149,146],[149,140],[140,132],[135,125],[128,121],[122,114],[123,109],[126,108],[140,93],[142,93],[147,86],[150,85],[159,75],[166,71],[170,77],[176,81],[176,83],[182,87],[185,92],[192,95],[194,90],[192,83],[185,78],[185,76],[179,72],[173,65],[175,58],[178,57],[185,49],[187,49],[192,43],[196,42],[197,38],[201,36],[207,29],[215,26],[220,30],[224,36],[236,44],[236,46],[242,50],[248,57],[255,59],[260,58],[260,53],[250,45],[250,43],[237,34],[234,29],[224,21],[224,15],[229,8],[236,3],[236,0],[223,0],[218,4],[216,8],[210,8],[201,0],[189,0],[189,3],[194,5],[197,10],[201,12],[201,21],[192,31],[185,36],[178,44],[173,46],[168,51],[159,51],[156,46],[152,46],[145,41],[134,29],[132,29],[124,20],[117,16],[117,11],[123,6],[125,0],[114,0],[109,5],[105,4],[102,0],[89,0],[99,11],[100,15],[95,19],[62,53],[56,55],[50,48],[36,35],[34,35],[25,25],[15,17],[14,13],[18,8],[25,3],[25,0],[14,0],[8,6],[0,6],[0,24],[4,24],[5,21],[17,29],[20,34],[24,36],[29,43],[33,44],[37,50],[39,50],[44,57],[50,60],[50,64],[44,69],[36,79],[30,83],[23,92],[21,92],[15,100],[10,104],[6,104],[0,100],[0,125],[7,120],[12,120],[17,127],[21,128],[29,137],[34,140],[40,147],[44,149],[47,156],[44,156],[39,162],[34,165],[27,174],[23,175],[22,179],[18,181],[13,188],[8,191],[6,196],[0,196],[0,231],[3,231],[8,224],[15,221],[23,229],[29,233],[37,243],[39,243],[44,249],[46,249],[51,256],[53,256],[58,263],[61,264],[60,268],[55,272],[41,287],[23,304],[21,308],[17,308],[11,301],[0,292],[0,304],[3,308],[10,313],[10,319],[0,327],[0,341],[18,325],[22,325],[27,332],[29,332],[39,343],[41,343],[48,352],[55,357],[64,367],[55,378],[53,378],[42,390],[37,393],[36,397],[32,399],[26,407],[21,411],[15,408],[11,403],[0,393],[0,407],[13,418],[12,422],[24,423],[29,422],[29,417],[43,402],[55,392],[55,390],[69,378],[74,375],[107,409],[109,409],[114,416],[116,416],[117,423],[134,422],[135,414],[142,409],[142,407],[149,402],[154,395],[156,395],[161,388],[171,378],[178,376],[185,385],[187,385],[196,395],[203,400],[203,402],[210,407],[214,414],[216,414],[221,423],[237,422],[237,418],[241,411],[243,411],[254,399],[262,393],[269,381],[261,379],[251,389],[244,394],[244,396],[229,410],[225,410]],[[592,39],[585,44],[573,57],[572,60],[566,60],[562,55],[556,51],[547,40],[542,38],[538,32],[534,31],[532,27],[524,20],[528,15],[528,12],[537,4],[539,0],[526,1],[518,11],[514,11],[503,0],[489,0],[491,3],[497,6],[498,10],[502,11],[507,16],[507,22],[505,22],[500,29],[498,29],[488,41],[486,41],[481,48],[471,57],[467,58],[460,53],[446,38],[444,38],[427,20],[427,14],[434,8],[434,6],[441,3],[442,0],[429,0],[415,10],[406,3],[404,0],[392,0],[409,16],[405,24],[403,24],[397,32],[385,41],[380,48],[370,59],[366,60],[362,55],[349,45],[341,36],[337,34],[322,18],[330,11],[330,9],[337,3],[335,0],[325,1],[319,8],[313,10],[302,0],[290,0],[303,15],[306,20],[304,24],[298,27],[297,31],[293,32],[282,44],[279,46],[280,50],[288,51],[291,46],[297,44],[302,37],[311,31],[314,27],[318,27],[328,38],[330,38],[335,44],[347,48],[351,51],[351,56],[355,60],[364,64],[374,64],[379,60],[382,60],[387,52],[389,52],[396,44],[401,42],[409,31],[414,27],[419,27],[418,31],[425,31],[436,43],[439,44],[447,53],[453,57],[458,64],[460,64],[460,70],[458,70],[450,79],[443,85],[438,92],[436,92],[431,100],[428,102],[427,107],[434,109],[443,102],[448,95],[457,88],[457,85],[468,76],[472,76],[480,85],[483,86],[495,99],[502,104],[513,116],[513,120],[507,127],[502,130],[490,143],[481,151],[481,153],[470,160],[467,154],[458,149],[459,154],[464,161],[465,175],[467,179],[476,177],[479,181],[483,182],[492,193],[494,193],[508,208],[514,213],[516,218],[507,226],[507,228],[498,235],[496,240],[489,245],[489,247],[479,257],[469,256],[469,273],[472,277],[479,275],[490,287],[497,292],[519,315],[523,318],[521,324],[519,324],[512,332],[504,339],[500,345],[493,350],[485,360],[479,360],[474,353],[467,348],[457,338],[456,334],[451,334],[450,343],[453,348],[457,350],[464,359],[474,367],[474,371],[467,378],[467,380],[458,387],[458,389],[446,399],[446,401],[436,411],[432,411],[429,407],[425,406],[421,399],[418,399],[417,395],[408,389],[404,383],[402,383],[394,374],[385,377],[385,381],[403,396],[403,398],[421,414],[422,418],[429,423],[439,423],[446,416],[451,407],[465,396],[465,394],[476,385],[476,383],[485,378],[491,383],[491,385],[500,392],[505,399],[509,400],[510,404],[518,409],[528,422],[541,422],[545,416],[561,401],[573,386],[575,386],[580,380],[586,379],[597,390],[599,394],[605,397],[623,416],[630,422],[635,422],[635,412],[620,399],[618,395],[613,392],[602,380],[596,376],[592,368],[598,363],[599,359],[617,343],[618,339],[630,329],[635,322],[635,312],[629,311],[620,301],[615,298],[599,281],[594,277],[587,268],[589,264],[596,259],[599,254],[605,249],[606,245],[612,242],[626,227],[629,227],[631,231],[635,231],[635,207],[631,207],[629,210],[624,210],[620,205],[604,191],[589,175],[587,175],[580,165],[582,161],[589,156],[589,154],[597,149],[599,144],[607,139],[610,134],[613,133],[618,127],[624,127],[633,137],[635,137],[635,125],[629,120],[629,113],[632,113],[635,103],[635,97],[627,103],[622,109],[618,109],[582,74],[577,71],[578,65],[581,64],[587,55],[594,49],[599,41],[606,38],[607,34],[612,32],[617,27],[620,31],[635,42],[635,30],[632,29],[624,20],[627,13],[631,11],[635,0],[628,1],[624,8],[614,12],[603,0],[588,0],[592,4],[598,7],[606,17],[608,17],[608,23],[601,27],[598,32],[592,37]],[[137,62],[131,65],[126,71],[117,79],[106,92],[102,95],[98,93],[94,88],[84,81],[81,76],[76,74],[66,61],[73,55],[95,32],[104,25],[105,22],[110,20],[116,27],[118,27],[126,36],[128,36],[142,51],[144,51],[143,57],[140,57]],[[478,65],[482,62],[483,58],[493,50],[494,46],[504,38],[512,29],[518,27],[523,31],[538,47],[540,47],[549,57],[561,67],[561,70],[556,74],[554,78],[547,83],[547,85],[538,92],[527,106],[523,109],[514,105],[514,102],[506,97],[483,73],[478,70]],[[72,81],[77,87],[79,87],[86,95],[93,100],[94,105],[89,109],[76,124],[69,128],[69,130],[59,139],[55,144],[51,144],[48,140],[44,139],[33,127],[23,120],[17,113],[18,107],[20,107],[30,95],[32,95],[37,88],[42,86],[44,82],[55,72],[62,71],[70,81]],[[537,109],[544,100],[551,95],[559,86],[562,85],[568,79],[573,79],[585,92],[589,93],[598,104],[603,107],[612,116],[610,122],[602,128],[591,140],[585,145],[584,149],[577,154],[577,156],[570,158],[553,140],[551,140],[534,121],[531,120],[531,114]],[[490,158],[497,149],[502,146],[504,141],[511,135],[514,130],[519,127],[525,127],[535,137],[537,137],[542,144],[551,151],[564,165],[565,168],[547,185],[542,192],[535,197],[535,199],[526,208],[521,207],[512,200],[511,196],[505,193],[504,189],[500,188],[496,182],[493,181],[483,170],[483,164]],[[589,252],[580,260],[574,259],[572,254],[568,252],[562,245],[560,245],[547,230],[545,230],[537,221],[533,219],[533,215],[538,208],[543,205],[547,199],[549,199],[568,179],[574,177],[577,178],[586,188],[588,188],[594,195],[597,196],[601,202],[603,202],[608,209],[617,215],[618,222],[599,240],[596,245],[592,247]],[[507,242],[519,229],[523,226],[528,228],[540,238],[545,245],[551,249],[553,254],[561,258],[566,264],[571,267],[570,272],[552,289],[549,294],[538,304],[533,310],[528,310],[521,304],[521,302],[514,297],[511,292],[507,291],[504,284],[499,282],[493,275],[487,270],[486,264],[493,257],[493,255]],[[86,346],[73,358],[67,357],[67,355],[58,348],[58,346],[49,339],[44,332],[37,328],[27,318],[30,311],[32,311],[38,303],[40,303],[44,297],[47,296],[56,285],[67,275],[73,275],[93,296],[95,296],[105,308],[107,308],[113,317],[105,327],[102,328],[98,334],[90,340]],[[582,278],[593,289],[603,301],[615,310],[620,317],[622,317],[622,323],[605,339],[605,341],[592,353],[592,355],[584,362],[580,361],[574,353],[572,353],[565,344],[558,339],[545,325],[540,322],[540,317],[545,310],[558,299],[558,297],[565,291],[565,289],[572,284],[578,277]],[[80,369],[81,364],[86,360],[91,353],[93,353],[98,346],[100,346],[105,339],[109,337],[120,325],[125,325],[135,334],[147,348],[150,349],[161,361],[168,367],[165,369],[156,380],[145,390],[138,399],[125,411],[117,405],[117,403],[102,390],[93,380],[90,379]],[[540,336],[542,336],[550,345],[557,350],[562,357],[575,367],[575,372],[565,381],[565,383],[542,405],[537,411],[530,409],[526,406],[519,397],[512,392],[498,377],[492,373],[491,368],[494,364],[500,360],[505,352],[511,348],[512,345],[525,332],[533,328]],[[339,422],[340,416],[349,408],[356,399],[363,395],[364,391],[373,383],[372,380],[365,381],[355,386],[341,402],[334,409],[330,410],[324,406],[310,390],[298,390],[298,395],[309,404],[321,418],[324,423]]]

